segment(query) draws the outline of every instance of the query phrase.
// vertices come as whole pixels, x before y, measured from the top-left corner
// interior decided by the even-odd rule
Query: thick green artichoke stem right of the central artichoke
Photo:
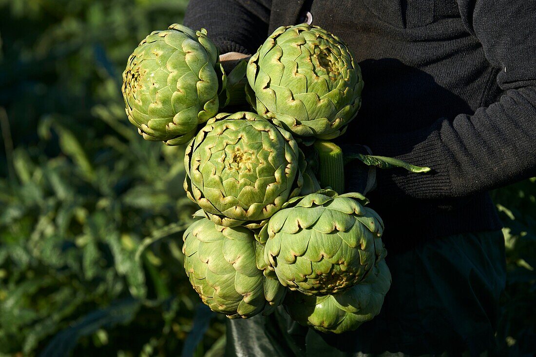
[[[344,193],[344,157],[338,145],[326,140],[314,144],[318,152],[318,179],[323,187],[331,187],[338,194]]]

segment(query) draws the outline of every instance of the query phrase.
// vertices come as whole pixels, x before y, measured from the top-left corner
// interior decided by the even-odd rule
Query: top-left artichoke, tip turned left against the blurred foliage
[[[144,139],[188,142],[218,113],[218,49],[206,31],[171,25],[148,35],[123,72],[126,115]]]

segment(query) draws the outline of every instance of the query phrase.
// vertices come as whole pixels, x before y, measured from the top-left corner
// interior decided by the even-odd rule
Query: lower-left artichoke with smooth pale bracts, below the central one
[[[206,218],[184,232],[184,268],[212,311],[229,318],[270,314],[286,289],[264,275],[264,247],[243,227],[221,227]],[[267,274],[268,275],[268,274]]]

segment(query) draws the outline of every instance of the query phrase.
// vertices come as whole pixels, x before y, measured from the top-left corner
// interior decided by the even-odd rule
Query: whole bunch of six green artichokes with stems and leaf
[[[184,268],[213,311],[248,318],[282,304],[334,333],[379,313],[391,283],[384,224],[361,193],[344,192],[343,152],[327,141],[354,119],[362,88],[344,43],[306,24],[278,28],[229,75],[204,29],[155,31],[129,57],[129,120],[146,140],[189,142],[184,190],[200,210]],[[220,113],[230,101],[251,107]]]

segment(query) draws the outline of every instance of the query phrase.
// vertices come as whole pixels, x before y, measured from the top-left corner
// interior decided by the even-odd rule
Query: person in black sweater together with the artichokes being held
[[[487,191],[536,174],[536,5],[503,2],[191,0],[135,49],[126,114],[185,145],[226,355],[496,354]]]

